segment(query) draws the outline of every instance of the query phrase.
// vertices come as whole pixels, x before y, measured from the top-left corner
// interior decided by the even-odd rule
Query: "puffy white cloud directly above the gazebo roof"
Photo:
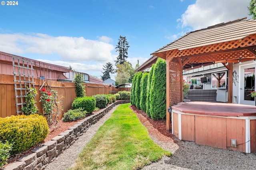
[[[194,30],[248,16],[250,0],[196,0],[178,22]]]

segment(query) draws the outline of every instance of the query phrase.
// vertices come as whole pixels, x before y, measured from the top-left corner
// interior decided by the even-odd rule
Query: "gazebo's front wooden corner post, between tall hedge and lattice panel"
[[[170,58],[166,59],[166,131],[170,130]]]

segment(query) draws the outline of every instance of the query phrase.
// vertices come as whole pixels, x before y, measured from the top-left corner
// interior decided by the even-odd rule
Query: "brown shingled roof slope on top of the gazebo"
[[[174,49],[182,51],[184,49],[243,39],[248,35],[255,33],[256,20],[246,20],[246,18],[241,18],[189,32],[176,41],[173,41],[172,43],[158,49],[152,54]]]

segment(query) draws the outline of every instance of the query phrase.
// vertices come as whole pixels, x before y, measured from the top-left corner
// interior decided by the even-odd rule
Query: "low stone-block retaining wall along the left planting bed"
[[[16,162],[8,164],[4,170],[42,170],[63,150],[68,149],[86,130],[102,118],[108,111],[118,104],[130,103],[130,100],[120,100],[102,109],[96,114],[90,115],[60,133],[58,136],[32,150],[33,153],[26,154]]]

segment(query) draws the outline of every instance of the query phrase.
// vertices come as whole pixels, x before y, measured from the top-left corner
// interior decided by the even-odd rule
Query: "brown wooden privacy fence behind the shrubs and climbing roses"
[[[39,80],[41,81],[41,80]],[[39,85],[40,84],[40,85]],[[36,95],[37,107],[39,113],[42,113],[42,106],[40,101],[40,87],[42,86],[41,82],[35,79],[35,88],[38,94]],[[74,82],[50,82],[51,90],[56,90],[59,97],[63,101],[63,110],[59,115],[59,119],[63,117],[63,113],[68,109],[71,109],[72,102],[76,98],[76,86]],[[118,91],[127,90],[130,91],[130,88],[114,88],[113,86],[104,85],[104,84],[91,84],[85,83],[84,88],[86,90],[87,96],[93,96],[96,94],[113,94]],[[14,76],[7,74],[0,74],[0,117],[4,118],[16,114],[16,100],[14,92]]]

